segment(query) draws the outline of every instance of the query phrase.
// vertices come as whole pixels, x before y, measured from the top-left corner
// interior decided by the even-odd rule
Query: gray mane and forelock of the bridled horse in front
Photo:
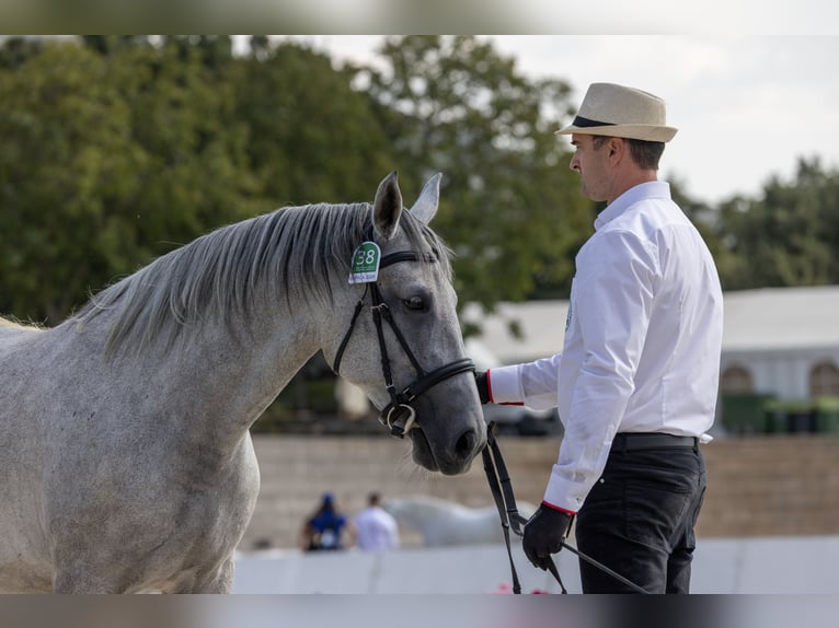
[[[450,251],[425,224],[403,211],[409,245],[440,252],[451,277]],[[348,276],[355,248],[371,239],[370,203],[291,206],[219,228],[168,253],[91,298],[73,317],[84,325],[111,313],[107,350],[166,348],[187,329],[221,318],[246,326],[262,300],[308,306],[332,302],[331,278]]]

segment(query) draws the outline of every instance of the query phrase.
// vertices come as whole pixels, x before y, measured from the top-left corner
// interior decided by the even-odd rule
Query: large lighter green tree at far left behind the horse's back
[[[55,324],[171,243],[249,214],[246,127],[228,66],[207,59],[107,38],[0,71],[0,312]]]

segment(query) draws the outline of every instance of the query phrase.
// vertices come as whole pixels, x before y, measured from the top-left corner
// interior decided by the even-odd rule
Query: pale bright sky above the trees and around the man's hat
[[[380,35],[300,35],[337,62],[376,62]],[[640,88],[679,129],[660,178],[712,205],[792,181],[801,158],[839,167],[839,36],[487,35],[529,77],[562,79],[578,106],[589,83]],[[556,120],[556,128],[570,120]],[[560,138],[558,141],[568,141]]]

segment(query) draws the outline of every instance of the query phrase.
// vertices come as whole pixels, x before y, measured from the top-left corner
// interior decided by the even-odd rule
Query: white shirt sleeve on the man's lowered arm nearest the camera
[[[593,242],[593,244],[595,244]],[[565,434],[544,500],[574,511],[602,474],[630,396],[650,324],[656,257],[637,236],[605,232],[578,259],[574,316],[583,362],[563,403]]]

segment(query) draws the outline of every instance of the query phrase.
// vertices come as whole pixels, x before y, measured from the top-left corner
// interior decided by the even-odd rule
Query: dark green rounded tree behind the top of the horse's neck
[[[240,70],[237,117],[249,128],[250,166],[275,206],[372,200],[396,162],[348,73],[306,46],[261,38]]]

